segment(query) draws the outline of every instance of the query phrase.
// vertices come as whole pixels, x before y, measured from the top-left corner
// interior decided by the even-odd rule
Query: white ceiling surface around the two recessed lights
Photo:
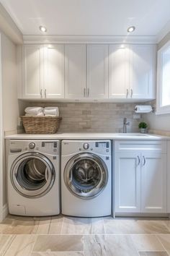
[[[158,35],[170,0],[0,0],[24,35]]]

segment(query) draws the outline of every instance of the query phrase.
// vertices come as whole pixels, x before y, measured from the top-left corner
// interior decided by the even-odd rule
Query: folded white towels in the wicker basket
[[[27,107],[24,112],[25,116],[59,116],[58,107]]]

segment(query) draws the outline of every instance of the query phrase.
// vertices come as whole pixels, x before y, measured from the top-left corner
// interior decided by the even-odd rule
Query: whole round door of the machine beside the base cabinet
[[[89,153],[73,156],[64,171],[68,189],[84,199],[99,195],[106,186],[107,179],[108,171],[104,161]]]

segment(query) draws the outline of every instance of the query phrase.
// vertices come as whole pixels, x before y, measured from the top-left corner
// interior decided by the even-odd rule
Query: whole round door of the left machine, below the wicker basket
[[[26,197],[40,197],[53,186],[53,164],[40,153],[21,155],[12,165],[11,179],[14,188]]]

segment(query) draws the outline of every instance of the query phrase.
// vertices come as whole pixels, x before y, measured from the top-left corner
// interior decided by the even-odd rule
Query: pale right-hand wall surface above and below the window
[[[158,43],[158,49],[164,46],[170,40],[170,32]],[[147,114],[145,116],[146,121],[149,124],[149,128],[152,130],[162,130],[170,132],[170,114],[156,115]]]

